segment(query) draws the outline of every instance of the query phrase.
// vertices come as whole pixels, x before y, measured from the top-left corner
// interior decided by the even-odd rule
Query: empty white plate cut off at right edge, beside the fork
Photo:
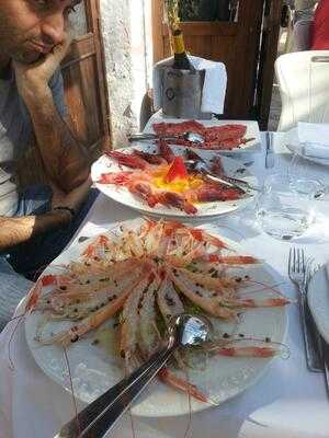
[[[316,325],[329,344],[329,276],[328,265],[321,267],[308,285],[307,299]]]

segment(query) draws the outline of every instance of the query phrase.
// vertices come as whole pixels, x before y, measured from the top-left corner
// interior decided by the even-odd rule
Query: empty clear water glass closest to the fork
[[[304,234],[315,219],[317,191],[317,181],[296,181],[281,174],[269,176],[258,198],[259,226],[265,233],[281,240],[290,241]]]

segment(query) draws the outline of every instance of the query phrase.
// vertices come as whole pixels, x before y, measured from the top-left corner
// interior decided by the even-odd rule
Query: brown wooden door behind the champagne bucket
[[[254,117],[256,80],[263,18],[263,0],[240,0],[235,22],[184,22],[188,50],[222,61],[228,73],[225,118]],[[152,0],[154,58],[170,56],[168,26],[162,0]]]

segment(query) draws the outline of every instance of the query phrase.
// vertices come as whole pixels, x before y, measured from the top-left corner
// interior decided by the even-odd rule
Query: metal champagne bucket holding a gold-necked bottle
[[[211,113],[201,112],[205,70],[163,68],[162,112],[173,118],[211,119]]]

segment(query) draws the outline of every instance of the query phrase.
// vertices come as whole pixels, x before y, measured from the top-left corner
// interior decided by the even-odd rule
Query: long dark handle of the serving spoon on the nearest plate
[[[67,423],[55,438],[101,438],[163,367],[178,344],[171,339],[147,362],[123,379]]]

